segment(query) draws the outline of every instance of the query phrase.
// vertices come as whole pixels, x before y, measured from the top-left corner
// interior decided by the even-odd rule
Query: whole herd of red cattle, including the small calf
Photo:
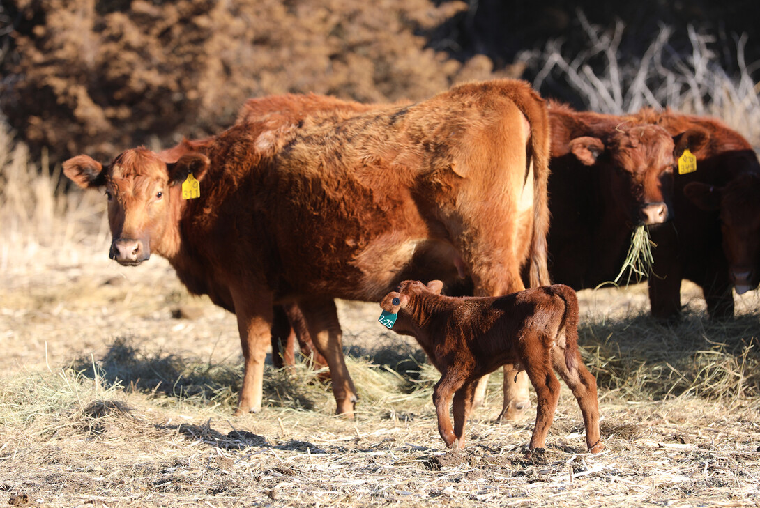
[[[353,416],[334,298],[382,301],[442,373],[433,399],[447,446],[464,445],[483,379],[503,366],[499,419],[527,409],[529,380],[537,393],[529,455],[553,419],[554,371],[595,453],[596,381],[578,355],[572,289],[614,279],[639,225],[657,245],[654,317],[677,317],[682,279],[716,319],[733,316],[733,289],[760,282],[760,164],[740,134],[670,110],[577,112],[520,80],[420,103],[250,99],[215,136],[125,150],[107,166],[75,156],[64,172],[105,189],[112,259],[166,257],[189,292],[236,314],[237,414],[261,410],[266,352],[287,338],[284,360],[296,339],[313,349],[337,413]]]

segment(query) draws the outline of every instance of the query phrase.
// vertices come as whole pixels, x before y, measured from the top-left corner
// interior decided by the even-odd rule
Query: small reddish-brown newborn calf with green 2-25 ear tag
[[[578,352],[575,292],[558,284],[496,298],[453,298],[441,295],[442,288],[439,280],[427,286],[415,280],[401,282],[397,292],[382,299],[385,312],[380,320],[397,333],[413,336],[441,372],[432,399],[438,431],[446,445],[464,447],[464,422],[480,377],[504,364],[514,364],[527,372],[538,399],[527,458],[544,447],[554,419],[559,381],[553,371],[578,399],[588,450],[603,450],[597,380]],[[454,428],[448,415],[452,396]]]

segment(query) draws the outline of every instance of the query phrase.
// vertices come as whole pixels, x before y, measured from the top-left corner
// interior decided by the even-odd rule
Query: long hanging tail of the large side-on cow
[[[530,124],[530,144],[527,148],[528,164],[533,164],[533,232],[530,238],[530,287],[548,286],[546,234],[549,232],[549,113],[546,102],[524,81],[517,81],[522,93],[511,98]]]

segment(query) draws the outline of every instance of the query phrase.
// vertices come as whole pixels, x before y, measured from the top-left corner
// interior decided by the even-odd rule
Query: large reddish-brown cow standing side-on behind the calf
[[[170,156],[170,157],[169,157]],[[106,188],[110,257],[159,254],[188,291],[236,314],[245,374],[236,414],[261,410],[274,304],[298,304],[353,416],[334,298],[378,301],[411,273],[473,281],[478,295],[548,281],[549,122],[519,80],[462,84],[426,101],[311,126],[244,122],[165,153],[64,164]],[[182,199],[182,184],[200,186]],[[197,189],[197,187],[195,188]]]

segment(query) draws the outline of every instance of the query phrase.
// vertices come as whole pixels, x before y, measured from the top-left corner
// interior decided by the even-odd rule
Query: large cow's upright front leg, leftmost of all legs
[[[273,320],[272,301],[271,298],[261,296],[265,294],[264,289],[233,292],[240,346],[245,361],[240,402],[235,415],[261,411],[264,360],[267,358],[267,347],[271,344]]]

